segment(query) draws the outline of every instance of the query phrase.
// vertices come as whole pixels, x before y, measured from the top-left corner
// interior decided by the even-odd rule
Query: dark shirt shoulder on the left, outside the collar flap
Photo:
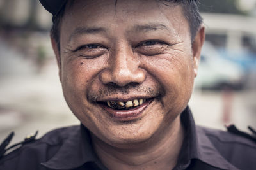
[[[0,159],[0,169],[40,169],[45,162],[58,152],[65,140],[79,131],[79,126],[63,127],[48,132],[42,138],[26,143]]]

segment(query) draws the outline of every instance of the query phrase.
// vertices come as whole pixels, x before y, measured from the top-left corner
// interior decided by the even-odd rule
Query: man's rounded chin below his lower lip
[[[129,148],[129,146],[146,143],[164,125],[164,117],[157,113],[145,115],[136,121],[116,123],[112,122],[106,127],[99,127],[95,136],[111,146]],[[93,130],[93,129],[92,129]],[[93,132],[93,131],[92,131]]]

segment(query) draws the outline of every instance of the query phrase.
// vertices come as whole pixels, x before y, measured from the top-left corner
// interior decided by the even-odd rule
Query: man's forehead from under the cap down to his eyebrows
[[[79,27],[90,31],[103,28],[106,35],[112,38],[154,29],[172,37],[190,34],[182,6],[159,0],[69,1],[62,25],[61,34],[66,37],[72,37]],[[68,38],[65,39],[68,41]]]

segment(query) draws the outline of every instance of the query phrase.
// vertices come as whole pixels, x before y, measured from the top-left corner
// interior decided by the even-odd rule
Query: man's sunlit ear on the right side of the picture
[[[198,66],[199,66],[199,62],[200,62],[201,50],[202,50],[202,46],[204,44],[204,39],[205,39],[204,29],[205,29],[204,25],[201,25],[200,29],[196,33],[193,43],[192,43],[193,65],[194,65],[195,77],[197,76],[197,73],[198,73]]]

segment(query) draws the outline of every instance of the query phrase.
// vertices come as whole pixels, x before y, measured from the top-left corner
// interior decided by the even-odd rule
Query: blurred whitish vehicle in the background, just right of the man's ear
[[[214,46],[206,41],[202,49],[195,88],[221,90],[228,87],[241,90],[246,84],[247,75],[246,69],[222,57]]]

